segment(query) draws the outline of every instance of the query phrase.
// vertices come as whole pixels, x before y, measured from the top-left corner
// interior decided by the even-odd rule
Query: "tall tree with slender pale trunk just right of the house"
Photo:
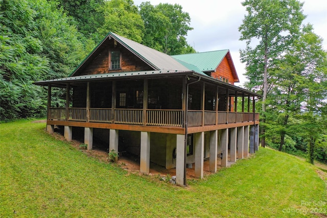
[[[303,3],[297,0],[245,0],[242,5],[246,7],[247,15],[239,31],[240,40],[246,40],[246,49],[241,50],[240,55],[241,61],[246,63],[248,88],[263,92],[261,145],[265,147],[269,68],[292,42],[292,36],[299,31],[305,15],[302,13]]]

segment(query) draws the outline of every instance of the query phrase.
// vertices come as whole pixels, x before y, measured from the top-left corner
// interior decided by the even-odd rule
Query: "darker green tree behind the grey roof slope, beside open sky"
[[[193,30],[191,18],[180,5],[160,3],[152,6],[145,2],[139,8],[145,26],[144,45],[169,55],[195,52],[185,38],[188,31]]]

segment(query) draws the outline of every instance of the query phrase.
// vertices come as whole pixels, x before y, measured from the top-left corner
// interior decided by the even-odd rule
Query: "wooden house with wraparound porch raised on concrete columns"
[[[258,149],[259,94],[239,82],[228,50],[169,56],[109,33],[67,78],[35,82],[48,87],[47,130],[82,135],[87,149],[101,141],[108,151],[176,168],[176,184],[186,184],[186,164],[203,177]],[[52,102],[65,90],[65,107]]]

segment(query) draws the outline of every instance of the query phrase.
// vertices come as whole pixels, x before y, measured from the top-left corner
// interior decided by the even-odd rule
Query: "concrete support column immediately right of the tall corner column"
[[[204,132],[195,133],[195,177],[203,178]]]

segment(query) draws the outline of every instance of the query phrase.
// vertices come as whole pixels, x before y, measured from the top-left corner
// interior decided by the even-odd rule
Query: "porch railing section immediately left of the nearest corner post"
[[[147,125],[181,127],[182,110],[147,110]]]

